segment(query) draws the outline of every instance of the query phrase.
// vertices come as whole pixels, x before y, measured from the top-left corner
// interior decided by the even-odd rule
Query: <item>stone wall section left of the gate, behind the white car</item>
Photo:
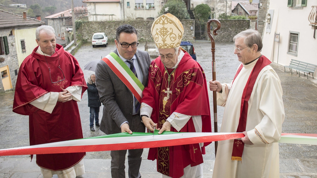
[[[130,24],[139,33],[139,41],[153,41],[151,34],[151,26],[153,21],[143,21],[143,20],[134,20],[134,21],[105,21],[105,22],[83,22],[81,27],[77,29],[77,38],[82,39],[83,41],[91,41],[94,33],[105,32],[108,36],[109,41],[114,41],[116,35],[116,29],[122,24]],[[193,34],[195,29],[195,21],[182,20],[184,27],[184,36],[183,40],[193,40]],[[192,27],[192,28],[191,28]]]

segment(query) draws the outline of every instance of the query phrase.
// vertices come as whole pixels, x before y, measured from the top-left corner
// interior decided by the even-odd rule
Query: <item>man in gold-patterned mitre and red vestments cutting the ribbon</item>
[[[180,47],[182,23],[173,15],[159,16],[152,35],[159,57],[152,61],[148,86],[141,100],[142,121],[159,134],[211,132],[207,82],[202,67]],[[209,143],[150,148],[148,159],[157,160],[163,177],[202,177],[204,146]]]

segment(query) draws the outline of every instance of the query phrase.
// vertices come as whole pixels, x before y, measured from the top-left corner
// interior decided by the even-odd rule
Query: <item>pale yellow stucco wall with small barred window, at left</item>
[[[19,66],[22,61],[32,53],[33,49],[37,47],[37,43],[35,41],[35,31],[36,28],[29,29],[15,29],[15,39],[16,39],[16,54],[19,60]],[[22,53],[21,41],[25,41],[25,49],[26,53]]]

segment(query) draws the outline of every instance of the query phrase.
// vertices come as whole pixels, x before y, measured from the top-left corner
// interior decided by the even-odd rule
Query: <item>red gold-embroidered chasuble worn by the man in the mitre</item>
[[[162,128],[165,120],[178,112],[190,116],[202,116],[202,131],[211,132],[210,107],[206,77],[201,66],[185,52],[178,67],[164,68],[160,57],[152,61],[149,69],[148,86],[143,91],[142,103],[153,108],[151,118]],[[170,92],[168,93],[168,75],[170,75]],[[169,99],[165,100],[169,94]],[[165,98],[165,99],[164,99]],[[167,97],[168,98],[168,97]],[[177,132],[171,127],[171,131]],[[192,118],[180,132],[195,132]],[[210,143],[204,143],[207,146]],[[184,175],[188,165],[196,166],[203,163],[199,144],[188,144],[170,147],[150,148],[148,159],[157,159],[158,172],[179,178]]]

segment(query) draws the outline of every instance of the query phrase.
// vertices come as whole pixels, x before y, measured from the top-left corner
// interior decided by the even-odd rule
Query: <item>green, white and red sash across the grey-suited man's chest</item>
[[[144,90],[143,84],[134,75],[130,68],[120,59],[120,57],[111,52],[102,59],[111,70],[119,77],[119,79],[129,88],[135,98],[141,103],[142,91]]]

